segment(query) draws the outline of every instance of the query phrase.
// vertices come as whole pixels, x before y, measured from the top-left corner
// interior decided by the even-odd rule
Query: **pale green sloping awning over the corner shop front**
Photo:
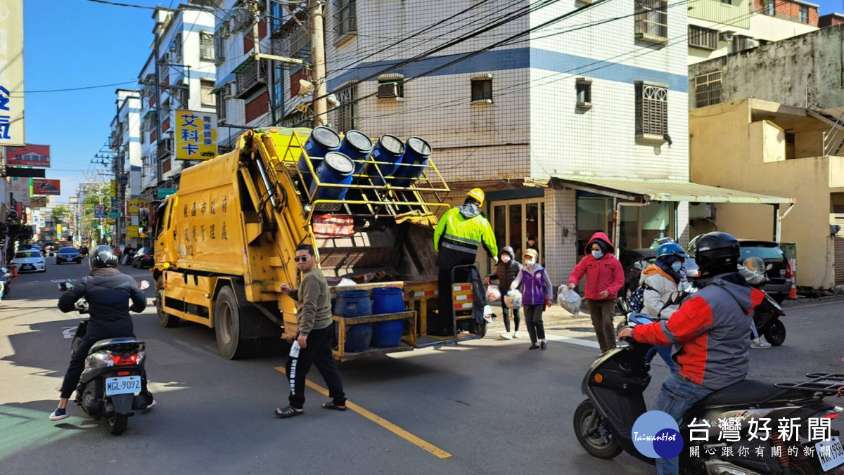
[[[795,198],[741,192],[720,186],[679,180],[641,180],[580,175],[553,175],[551,186],[593,192],[630,201],[733,202],[748,204],[794,204]]]

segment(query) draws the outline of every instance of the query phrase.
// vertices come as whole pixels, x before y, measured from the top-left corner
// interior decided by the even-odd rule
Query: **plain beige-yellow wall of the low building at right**
[[[760,151],[779,149],[776,133],[750,122],[747,101],[690,112],[691,178],[712,186],[797,198],[782,221],[782,242],[798,245],[798,285],[830,287],[834,257],[829,247],[830,167],[840,157],[763,161]],[[760,146],[759,140],[764,141]],[[771,240],[773,213],[767,205],[717,205],[717,229],[742,238]],[[781,213],[785,207],[781,209]],[[819,251],[821,250],[821,251]]]

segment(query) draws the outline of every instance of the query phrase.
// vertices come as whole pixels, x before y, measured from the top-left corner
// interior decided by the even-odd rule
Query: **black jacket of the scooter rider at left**
[[[115,268],[93,269],[79,279],[58,299],[58,310],[65,313],[75,310],[77,300],[88,300],[90,307],[87,335],[94,337],[128,336],[133,334],[129,310],[142,312],[147,307],[147,297],[134,278]],[[132,306],[129,306],[132,300]]]

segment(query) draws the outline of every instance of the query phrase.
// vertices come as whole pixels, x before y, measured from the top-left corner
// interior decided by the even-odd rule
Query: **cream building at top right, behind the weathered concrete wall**
[[[818,26],[818,5],[801,0],[695,0],[689,3],[689,64],[803,35]]]

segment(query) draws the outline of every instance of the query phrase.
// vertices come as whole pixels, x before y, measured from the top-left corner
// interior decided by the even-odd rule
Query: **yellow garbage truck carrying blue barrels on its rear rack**
[[[387,154],[356,159],[344,154],[344,163],[354,163],[354,170],[338,181],[336,174],[322,173],[331,168],[322,163],[331,157],[318,157],[318,148],[309,147],[317,131],[333,133],[324,127],[250,130],[230,153],[181,172],[179,190],[161,203],[154,229],[160,324],[192,321],[214,328],[219,352],[229,359],[276,348],[281,339],[295,336],[295,301],[279,287],[298,284],[293,258],[296,246],[305,243],[317,251],[333,302],[352,290],[366,291],[357,295],[370,299],[376,291],[401,289],[403,305],[388,306],[389,311],[333,307],[342,314],[333,317],[337,359],[483,337],[485,322],[472,317],[472,286],[459,279],[446,331],[437,317],[433,229],[435,210],[448,207],[449,188],[433,161],[408,163],[404,166],[415,169],[401,172]],[[398,141],[354,133],[376,149],[385,137]],[[420,143],[430,154],[430,146]],[[362,308],[371,304],[356,301]],[[384,322],[395,328],[397,321],[403,322],[398,344],[361,343],[360,328]],[[436,332],[429,330],[429,321],[439,323]]]

